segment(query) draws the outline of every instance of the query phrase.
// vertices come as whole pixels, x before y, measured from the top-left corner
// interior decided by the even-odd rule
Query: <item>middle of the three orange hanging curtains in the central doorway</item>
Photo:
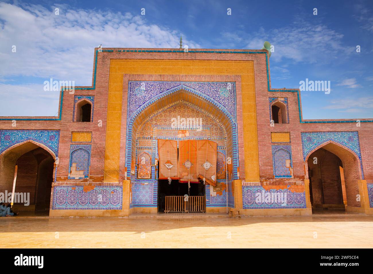
[[[179,141],[179,177],[181,183],[198,183],[198,142]]]

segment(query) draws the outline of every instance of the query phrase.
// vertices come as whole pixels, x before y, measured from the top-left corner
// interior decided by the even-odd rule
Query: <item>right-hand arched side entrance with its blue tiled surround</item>
[[[361,207],[358,180],[363,179],[363,170],[357,132],[302,133],[302,141],[314,207],[347,211]]]

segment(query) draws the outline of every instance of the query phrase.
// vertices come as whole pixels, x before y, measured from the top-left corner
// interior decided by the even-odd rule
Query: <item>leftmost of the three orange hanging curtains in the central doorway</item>
[[[178,176],[178,142],[172,140],[158,139],[159,155],[159,179],[173,180],[179,179]]]

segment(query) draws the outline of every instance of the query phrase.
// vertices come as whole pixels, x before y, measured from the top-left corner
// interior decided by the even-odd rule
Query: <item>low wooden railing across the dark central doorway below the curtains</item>
[[[206,212],[205,196],[166,196],[164,212]]]

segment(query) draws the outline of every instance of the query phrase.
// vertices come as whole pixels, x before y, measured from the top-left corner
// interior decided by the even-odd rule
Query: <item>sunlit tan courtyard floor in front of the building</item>
[[[0,248],[373,248],[373,216],[1,217]]]

